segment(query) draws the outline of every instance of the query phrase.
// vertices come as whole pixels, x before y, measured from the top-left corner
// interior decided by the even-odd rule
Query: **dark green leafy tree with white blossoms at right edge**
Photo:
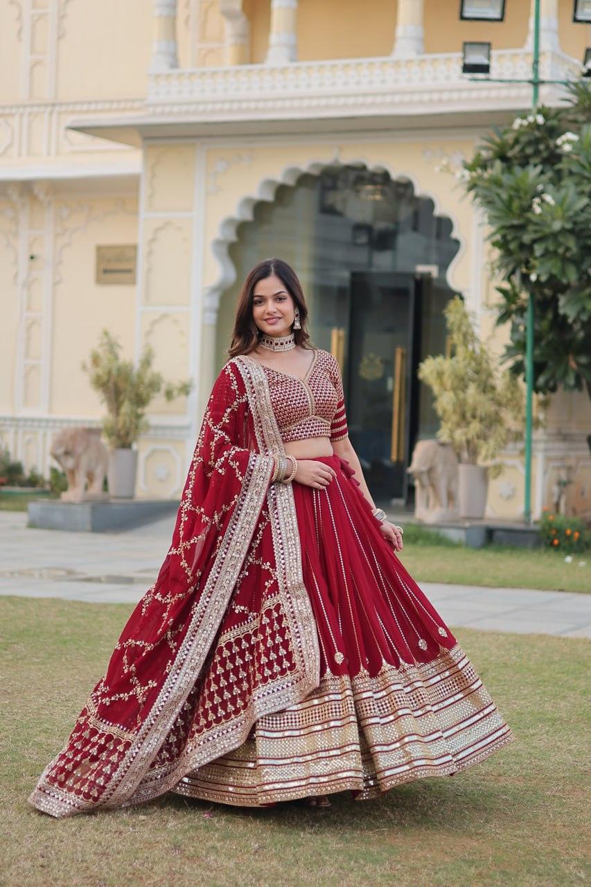
[[[494,130],[460,175],[491,228],[511,371],[524,375],[533,296],[534,389],[591,397],[591,86],[568,89],[568,105]]]

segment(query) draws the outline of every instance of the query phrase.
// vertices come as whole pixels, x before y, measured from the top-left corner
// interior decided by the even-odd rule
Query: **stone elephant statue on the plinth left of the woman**
[[[61,494],[65,502],[107,498],[103,482],[108,453],[98,428],[64,428],[53,437],[50,452],[66,472],[67,490]]]

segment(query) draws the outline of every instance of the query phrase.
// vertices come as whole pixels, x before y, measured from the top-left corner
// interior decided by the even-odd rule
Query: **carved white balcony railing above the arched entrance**
[[[532,71],[528,50],[493,51],[491,77],[527,79]],[[544,52],[541,76],[569,80],[580,64],[563,52]],[[284,66],[179,68],[150,75],[147,107],[155,113],[201,112],[215,119],[311,112],[323,114],[363,109],[386,101],[432,104],[443,100],[464,109],[462,101],[515,98],[527,83],[475,82],[461,74],[461,53],[425,54],[412,59],[338,59],[294,62]],[[501,102],[502,104],[502,102]]]

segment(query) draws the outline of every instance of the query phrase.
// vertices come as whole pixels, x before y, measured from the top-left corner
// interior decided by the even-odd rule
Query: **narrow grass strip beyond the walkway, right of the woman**
[[[562,553],[549,548],[467,548],[408,524],[400,559],[419,583],[591,593],[591,552],[588,551],[573,554],[571,563],[566,563]],[[584,566],[579,566],[580,563]]]

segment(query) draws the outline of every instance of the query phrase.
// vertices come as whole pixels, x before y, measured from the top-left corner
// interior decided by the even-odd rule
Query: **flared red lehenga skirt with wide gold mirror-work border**
[[[457,773],[513,734],[453,633],[382,537],[348,463],[294,483],[320,682],[256,721],[247,742],[177,783],[189,797],[268,805],[352,789],[359,799]]]

